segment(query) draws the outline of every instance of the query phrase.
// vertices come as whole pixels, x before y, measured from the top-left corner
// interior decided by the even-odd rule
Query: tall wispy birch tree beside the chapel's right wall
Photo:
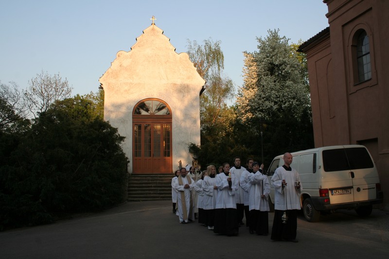
[[[224,55],[220,45],[220,41],[213,42],[210,38],[204,40],[203,45],[188,40],[187,46],[197,72],[207,82],[200,96],[201,151],[198,160],[203,166],[226,161],[220,145],[232,132],[235,118],[234,110],[227,105],[233,97],[234,85],[223,74]]]

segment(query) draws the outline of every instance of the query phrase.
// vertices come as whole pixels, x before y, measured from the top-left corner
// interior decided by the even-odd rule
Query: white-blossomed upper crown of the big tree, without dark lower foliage
[[[293,118],[298,122],[310,107],[309,92],[301,76],[301,64],[292,55],[288,39],[278,30],[257,38],[258,51],[245,52],[244,85],[237,103],[241,120],[255,128],[258,122]]]

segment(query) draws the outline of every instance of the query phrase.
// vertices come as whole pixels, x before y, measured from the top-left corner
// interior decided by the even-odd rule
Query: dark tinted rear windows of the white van
[[[323,150],[325,172],[372,168],[368,151],[363,147]]]

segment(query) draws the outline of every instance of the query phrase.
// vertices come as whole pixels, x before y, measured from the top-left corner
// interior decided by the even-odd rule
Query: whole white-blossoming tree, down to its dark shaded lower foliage
[[[312,147],[311,105],[299,56],[278,30],[257,40],[258,51],[245,53],[245,81],[237,98],[241,123],[257,136],[257,147],[263,133],[268,159]]]

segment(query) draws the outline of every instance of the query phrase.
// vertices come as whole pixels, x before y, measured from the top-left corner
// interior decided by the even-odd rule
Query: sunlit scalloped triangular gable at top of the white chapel
[[[182,85],[198,87],[200,91],[205,85],[188,54],[178,54],[170,39],[156,25],[146,28],[129,52],[118,52],[99,81],[105,89],[118,82],[137,84],[147,81],[149,90],[156,86]]]

